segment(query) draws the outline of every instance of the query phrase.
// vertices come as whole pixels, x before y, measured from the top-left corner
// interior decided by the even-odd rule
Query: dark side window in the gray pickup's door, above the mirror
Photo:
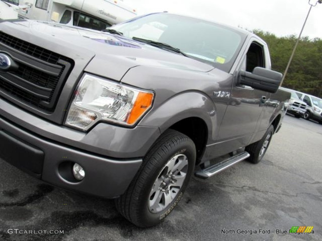
[[[252,72],[255,67],[265,67],[264,49],[259,43],[252,42],[246,54],[246,71]]]

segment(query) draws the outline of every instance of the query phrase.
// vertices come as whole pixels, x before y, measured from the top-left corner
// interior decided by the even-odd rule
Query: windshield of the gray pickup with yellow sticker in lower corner
[[[166,43],[191,58],[226,72],[245,39],[244,34],[212,22],[168,13],[138,17],[112,27],[128,38]]]

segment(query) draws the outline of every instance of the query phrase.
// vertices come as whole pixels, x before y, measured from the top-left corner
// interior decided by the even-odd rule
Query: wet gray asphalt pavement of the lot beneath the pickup
[[[321,142],[322,125],[286,116],[262,162],[193,178],[175,210],[148,229],[111,200],[52,187],[0,159],[0,241],[322,240]],[[293,226],[313,231],[291,234]]]

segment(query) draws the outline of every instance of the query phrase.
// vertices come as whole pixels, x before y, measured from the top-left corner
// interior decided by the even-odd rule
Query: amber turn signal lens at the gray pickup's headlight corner
[[[140,92],[128,117],[128,124],[135,123],[152,105],[153,94]]]

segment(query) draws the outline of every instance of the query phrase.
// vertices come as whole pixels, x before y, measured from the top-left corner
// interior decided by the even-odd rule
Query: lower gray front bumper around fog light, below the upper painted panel
[[[35,136],[0,118],[0,158],[55,186],[105,198],[123,194],[142,159],[116,160],[65,147]],[[73,179],[72,164],[86,173]]]

